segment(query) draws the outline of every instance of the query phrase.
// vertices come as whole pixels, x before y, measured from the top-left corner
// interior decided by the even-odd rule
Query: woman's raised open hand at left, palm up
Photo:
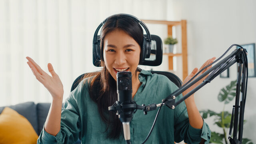
[[[48,63],[48,70],[52,75],[50,76],[49,74],[44,72],[44,70],[42,70],[32,58],[27,56],[26,59],[28,60],[27,64],[31,68],[34,76],[36,76],[36,79],[41,82],[44,87],[46,87],[46,89],[50,92],[53,100],[62,101],[64,94],[63,85],[59,76],[54,72],[52,64]]]

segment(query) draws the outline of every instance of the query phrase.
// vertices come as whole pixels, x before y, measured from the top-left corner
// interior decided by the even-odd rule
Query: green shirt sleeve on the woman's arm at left
[[[44,128],[37,140],[38,144],[70,144],[78,140],[80,133],[80,114],[76,95],[80,93],[75,89],[64,102],[61,112],[60,131],[56,136],[47,133]]]

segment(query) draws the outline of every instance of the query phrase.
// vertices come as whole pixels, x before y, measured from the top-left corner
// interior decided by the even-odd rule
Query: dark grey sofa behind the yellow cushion
[[[18,112],[18,114],[24,116],[30,122],[39,136],[44,127],[44,122],[46,121],[50,105],[50,103],[35,104],[34,102],[24,102],[8,107]],[[5,106],[0,107],[0,114],[4,108]],[[81,141],[78,140],[75,144],[81,144]]]

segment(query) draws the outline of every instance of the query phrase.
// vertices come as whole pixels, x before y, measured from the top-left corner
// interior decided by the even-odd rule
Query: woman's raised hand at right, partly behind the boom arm
[[[209,60],[207,60],[200,68],[200,70],[202,70],[205,66],[208,66],[208,64],[212,63],[215,60],[216,57],[213,57]],[[209,66],[208,68],[204,69],[202,72],[200,72],[200,74],[198,74],[194,79],[198,78],[200,75],[202,75],[204,72],[206,72],[207,70],[209,70],[212,66]],[[199,70],[199,71],[200,71]],[[184,84],[186,84],[196,73],[198,72],[198,68],[194,68],[194,70],[191,72],[190,75],[188,75],[184,82],[182,83],[182,86]],[[199,80],[198,82],[196,82],[193,86],[191,86],[190,88],[188,88],[186,91],[182,92],[182,95],[185,96],[188,92],[190,92],[191,90],[193,90],[194,88],[196,88],[196,86],[198,86],[199,84],[201,84],[204,79],[207,77],[208,75],[206,75],[204,78],[202,78],[201,80]],[[193,79],[193,80],[194,80]],[[194,100],[194,94],[192,94],[190,97],[188,97],[185,102],[187,103],[190,100]]]

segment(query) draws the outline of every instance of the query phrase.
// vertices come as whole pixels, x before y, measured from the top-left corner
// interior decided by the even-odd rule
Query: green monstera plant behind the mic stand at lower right
[[[236,80],[231,81],[230,84],[222,88],[218,94],[218,100],[224,102],[223,110],[220,113],[214,112],[212,110],[200,111],[202,117],[214,117],[214,124],[222,128],[223,133],[212,132],[210,143],[217,144],[228,144],[228,130],[230,128],[230,121],[232,114],[228,111],[224,111],[225,105],[230,103],[236,96]],[[242,144],[253,144],[248,138],[242,139]]]

